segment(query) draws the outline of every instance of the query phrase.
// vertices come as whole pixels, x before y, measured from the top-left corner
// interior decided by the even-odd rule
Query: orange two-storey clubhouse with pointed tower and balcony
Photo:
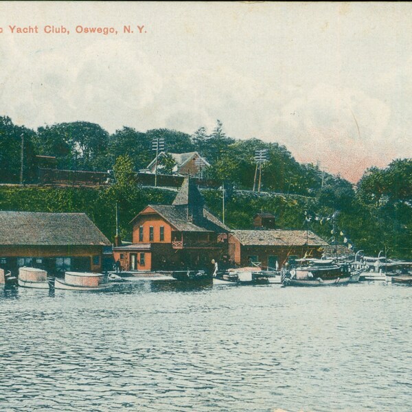
[[[205,209],[193,179],[172,205],[148,205],[130,223],[133,243],[113,248],[127,271],[208,268],[228,255],[229,228]]]

